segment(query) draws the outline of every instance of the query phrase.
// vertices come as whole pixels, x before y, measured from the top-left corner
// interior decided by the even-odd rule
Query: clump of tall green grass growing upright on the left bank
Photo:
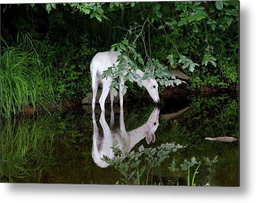
[[[45,66],[39,60],[33,46],[1,50],[1,116],[22,114],[29,106],[35,111],[48,111],[55,104],[51,71],[50,64]]]

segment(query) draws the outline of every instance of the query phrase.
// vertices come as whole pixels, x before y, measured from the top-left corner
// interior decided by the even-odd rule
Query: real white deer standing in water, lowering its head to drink
[[[100,83],[102,84],[102,93],[99,99],[101,110],[105,111],[105,100],[109,92],[110,92],[111,106],[113,106],[114,95],[112,91],[110,91],[110,85],[113,79],[110,77],[105,77],[101,79],[100,75],[102,75],[103,71],[107,70],[107,68],[112,67],[113,64],[114,66],[118,65],[118,62],[116,62],[118,56],[119,54],[115,51],[99,52],[93,57],[91,61],[90,71],[91,71],[91,88],[92,88],[92,103],[91,103],[92,111],[95,110],[96,95],[97,95],[98,86]],[[129,68],[128,65],[127,65],[127,68]],[[150,71],[154,73],[153,68],[151,68]],[[123,72],[123,74],[126,75],[127,72]],[[139,74],[142,77],[144,75],[144,72],[141,70],[137,70],[137,74]],[[133,78],[133,81],[138,81],[138,80]],[[159,95],[158,95],[158,84],[156,80],[152,78],[147,80],[142,80],[142,85],[149,92],[150,96],[153,98],[155,103],[158,103]],[[124,97],[122,94],[123,88],[124,88],[124,80],[121,79],[119,84],[120,107],[123,107],[123,97]]]

